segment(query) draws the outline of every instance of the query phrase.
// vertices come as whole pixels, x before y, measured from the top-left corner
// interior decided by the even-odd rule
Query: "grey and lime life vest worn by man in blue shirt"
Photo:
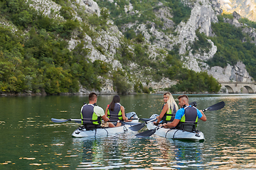
[[[180,122],[176,126],[177,129],[185,131],[194,131],[198,123],[197,109],[194,106],[185,106],[185,113],[182,116]]]

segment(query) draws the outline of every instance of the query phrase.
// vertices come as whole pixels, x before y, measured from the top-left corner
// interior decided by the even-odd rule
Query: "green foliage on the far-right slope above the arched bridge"
[[[237,28],[223,21],[223,16],[218,16],[219,22],[212,23],[215,37],[210,38],[218,50],[214,57],[208,61],[213,66],[225,67],[242,61],[253,79],[256,79],[256,46],[251,43],[251,38],[242,33],[242,28]]]

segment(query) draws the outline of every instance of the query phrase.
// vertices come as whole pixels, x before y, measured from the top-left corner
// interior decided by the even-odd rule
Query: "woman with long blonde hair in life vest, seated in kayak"
[[[164,106],[160,115],[156,117],[157,121],[154,123],[159,124],[161,120],[163,120],[161,123],[172,122],[175,118],[176,111],[178,111],[178,106],[174,101],[174,97],[170,92],[166,92],[164,94]]]

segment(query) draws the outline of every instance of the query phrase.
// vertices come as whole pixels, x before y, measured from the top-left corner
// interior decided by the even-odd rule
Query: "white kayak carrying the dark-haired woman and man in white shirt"
[[[137,120],[132,120],[131,122],[122,123],[119,127],[114,128],[97,128],[94,130],[86,130],[84,126],[80,126],[77,128],[73,133],[73,137],[101,137],[101,136],[108,136],[108,135],[115,135],[122,132],[132,132],[129,130],[131,125],[134,123],[139,123],[139,118],[135,112],[126,113],[127,118],[137,118]],[[131,125],[129,125],[131,124]]]

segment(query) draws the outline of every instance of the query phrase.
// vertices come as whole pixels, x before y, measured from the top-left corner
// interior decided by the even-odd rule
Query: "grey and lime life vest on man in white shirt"
[[[101,117],[97,116],[94,112],[95,104],[85,104],[81,108],[81,118],[83,125],[100,125]]]

